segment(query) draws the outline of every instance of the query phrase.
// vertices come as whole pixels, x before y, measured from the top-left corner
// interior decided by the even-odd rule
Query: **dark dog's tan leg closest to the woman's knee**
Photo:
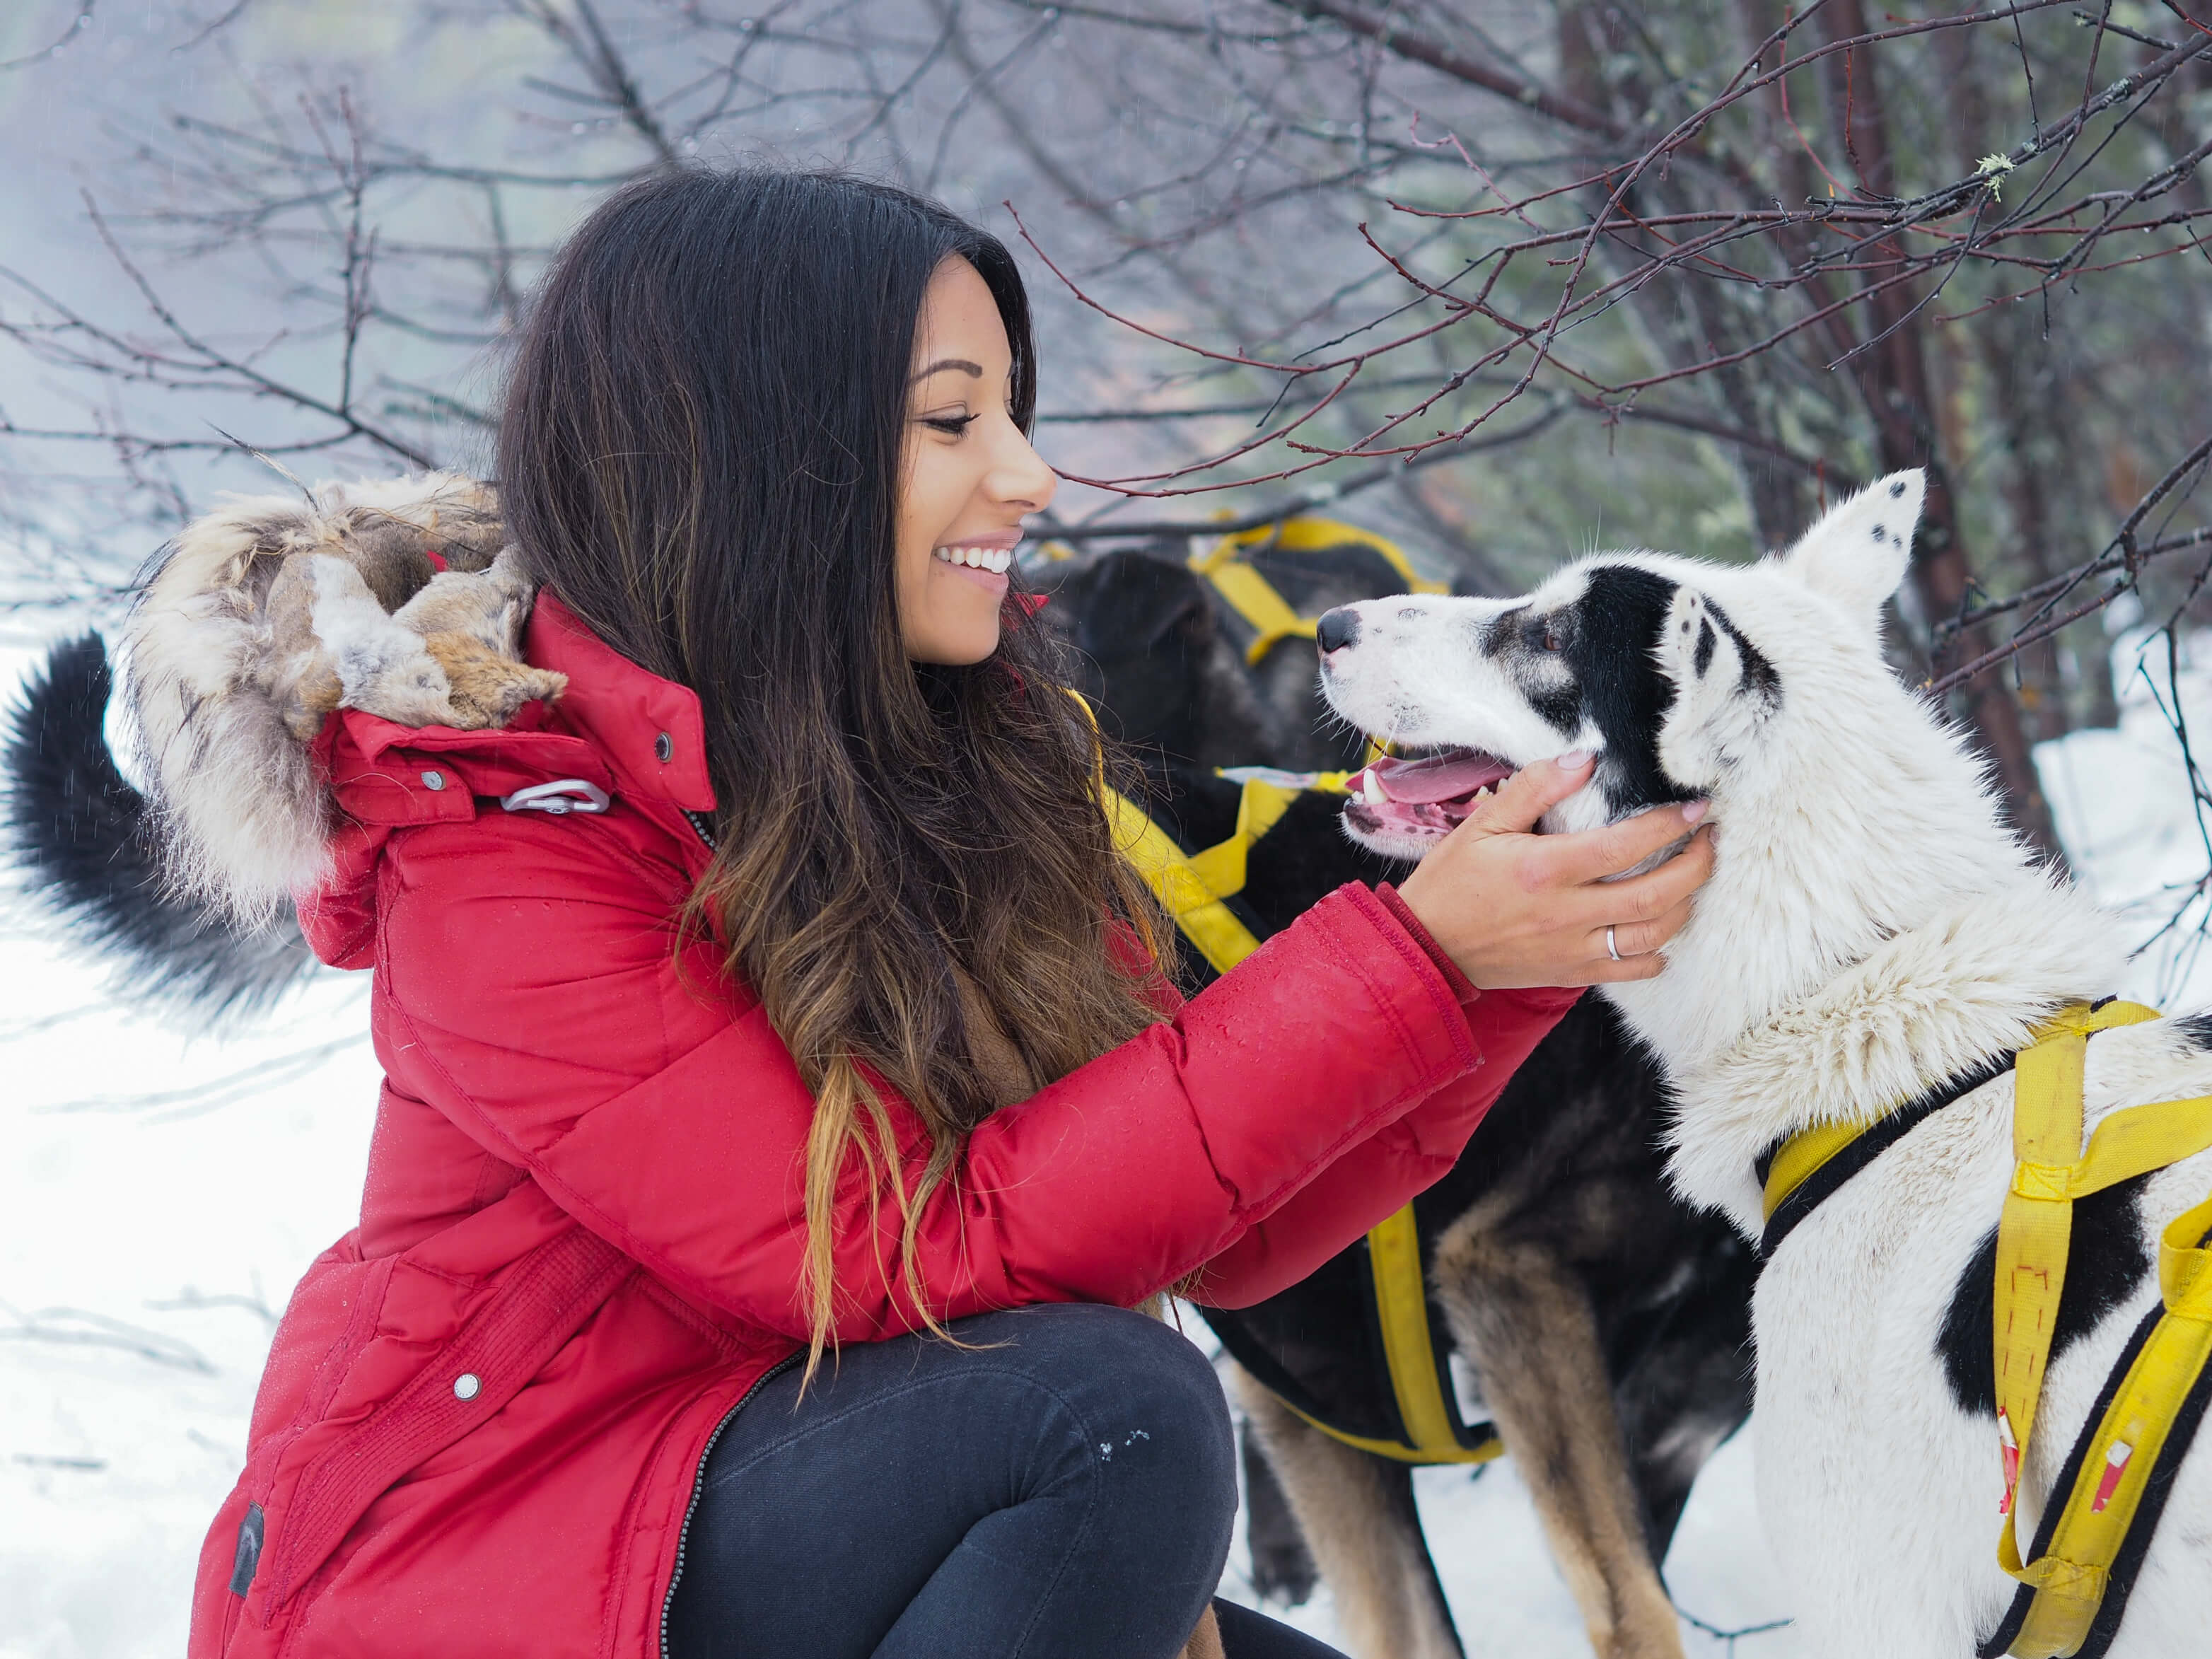
[[[1305,1531],[1356,1659],[1462,1659],[1444,1586],[1420,1535],[1413,1473],[1329,1440],[1245,1371],[1237,1402],[1259,1431]]]

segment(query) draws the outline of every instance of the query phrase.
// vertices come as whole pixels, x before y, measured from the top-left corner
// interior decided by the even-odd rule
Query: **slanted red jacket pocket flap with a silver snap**
[[[409,1469],[489,1422],[637,1263],[582,1225],[522,1256],[411,1383],[299,1471],[257,1577],[276,1617]]]

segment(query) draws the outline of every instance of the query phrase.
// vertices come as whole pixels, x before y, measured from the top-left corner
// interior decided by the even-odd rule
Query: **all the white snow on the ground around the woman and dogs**
[[[13,644],[0,686],[31,664],[29,641]],[[2121,726],[2037,759],[2084,880],[2150,936],[2208,849],[2168,726],[2163,641],[2141,655],[2143,635],[2115,639]],[[2212,637],[2199,659],[2212,670]],[[2212,672],[2179,666],[2179,712],[2212,730]],[[2130,993],[2208,1000],[2201,909],[2143,953]],[[0,1655],[173,1659],[274,1312],[354,1223],[376,1099],[367,984],[323,975],[250,1031],[177,1031],[133,1018],[97,962],[11,898],[0,987]],[[1511,1462],[1480,1478],[1429,1469],[1418,1491],[1471,1655],[1588,1652]],[[1705,1469],[1666,1577],[1721,1630],[1787,1617],[1741,1436]],[[1232,1559],[1223,1588],[1250,1599],[1241,1586]],[[1336,1632],[1325,1590],[1274,1613]],[[1734,1644],[1688,1628],[1688,1641],[1692,1655],[1794,1652],[1787,1628]]]

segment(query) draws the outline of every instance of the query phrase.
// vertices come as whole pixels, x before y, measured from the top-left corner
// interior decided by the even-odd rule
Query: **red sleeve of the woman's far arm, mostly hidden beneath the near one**
[[[1469,987],[1462,1006],[1475,1037],[1475,1068],[1378,1128],[1248,1228],[1199,1270],[1190,1298],[1208,1307],[1265,1301],[1442,1181],[1513,1073],[1579,995]]]

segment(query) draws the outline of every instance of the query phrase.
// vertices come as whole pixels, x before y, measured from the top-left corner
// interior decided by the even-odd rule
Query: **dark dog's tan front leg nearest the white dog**
[[[1493,1237],[1480,1212],[1438,1239],[1436,1285],[1590,1646],[1599,1659],[1681,1659],[1588,1294],[1551,1250]]]

